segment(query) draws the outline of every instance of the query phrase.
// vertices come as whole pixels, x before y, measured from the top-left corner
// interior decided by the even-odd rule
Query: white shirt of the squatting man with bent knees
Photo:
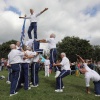
[[[60,63],[62,65],[61,70],[71,70],[70,69],[70,62],[67,57],[64,57]]]

